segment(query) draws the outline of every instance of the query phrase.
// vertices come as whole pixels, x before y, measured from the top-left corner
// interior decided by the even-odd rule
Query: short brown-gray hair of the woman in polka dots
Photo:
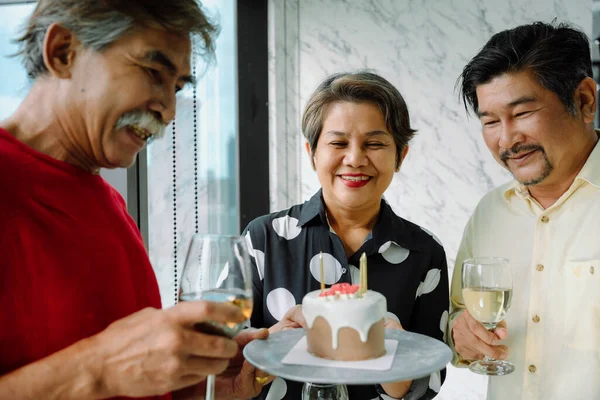
[[[308,99],[302,116],[302,133],[313,157],[327,107],[340,101],[373,103],[379,108],[386,128],[394,138],[396,167],[399,167],[400,155],[416,130],[410,127],[408,107],[398,89],[385,78],[366,70],[333,74],[321,82]]]

